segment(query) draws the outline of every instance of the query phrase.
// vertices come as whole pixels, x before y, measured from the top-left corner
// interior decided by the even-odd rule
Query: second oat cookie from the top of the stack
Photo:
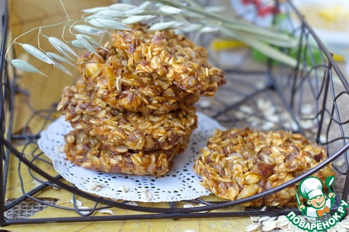
[[[89,53],[77,61],[82,77],[93,84],[96,95],[111,107],[147,114],[165,114],[179,108],[179,102],[198,102],[188,93],[156,73],[137,73],[127,66],[124,55],[108,47],[100,56]]]

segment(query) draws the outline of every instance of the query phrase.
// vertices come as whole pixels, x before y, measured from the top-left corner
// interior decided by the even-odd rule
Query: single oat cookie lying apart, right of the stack
[[[292,180],[327,158],[325,148],[302,134],[261,132],[248,128],[216,130],[200,150],[194,170],[202,185],[221,199],[253,196]],[[315,176],[333,176],[331,166]],[[245,206],[295,206],[297,185],[246,203]]]

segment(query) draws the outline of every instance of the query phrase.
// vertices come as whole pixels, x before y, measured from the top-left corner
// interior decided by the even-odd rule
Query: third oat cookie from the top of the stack
[[[175,111],[158,115],[114,109],[97,98],[94,86],[82,78],[74,86],[64,88],[57,109],[75,129],[84,129],[105,146],[121,147],[125,152],[168,150],[186,139],[197,126],[196,109],[186,102]]]

